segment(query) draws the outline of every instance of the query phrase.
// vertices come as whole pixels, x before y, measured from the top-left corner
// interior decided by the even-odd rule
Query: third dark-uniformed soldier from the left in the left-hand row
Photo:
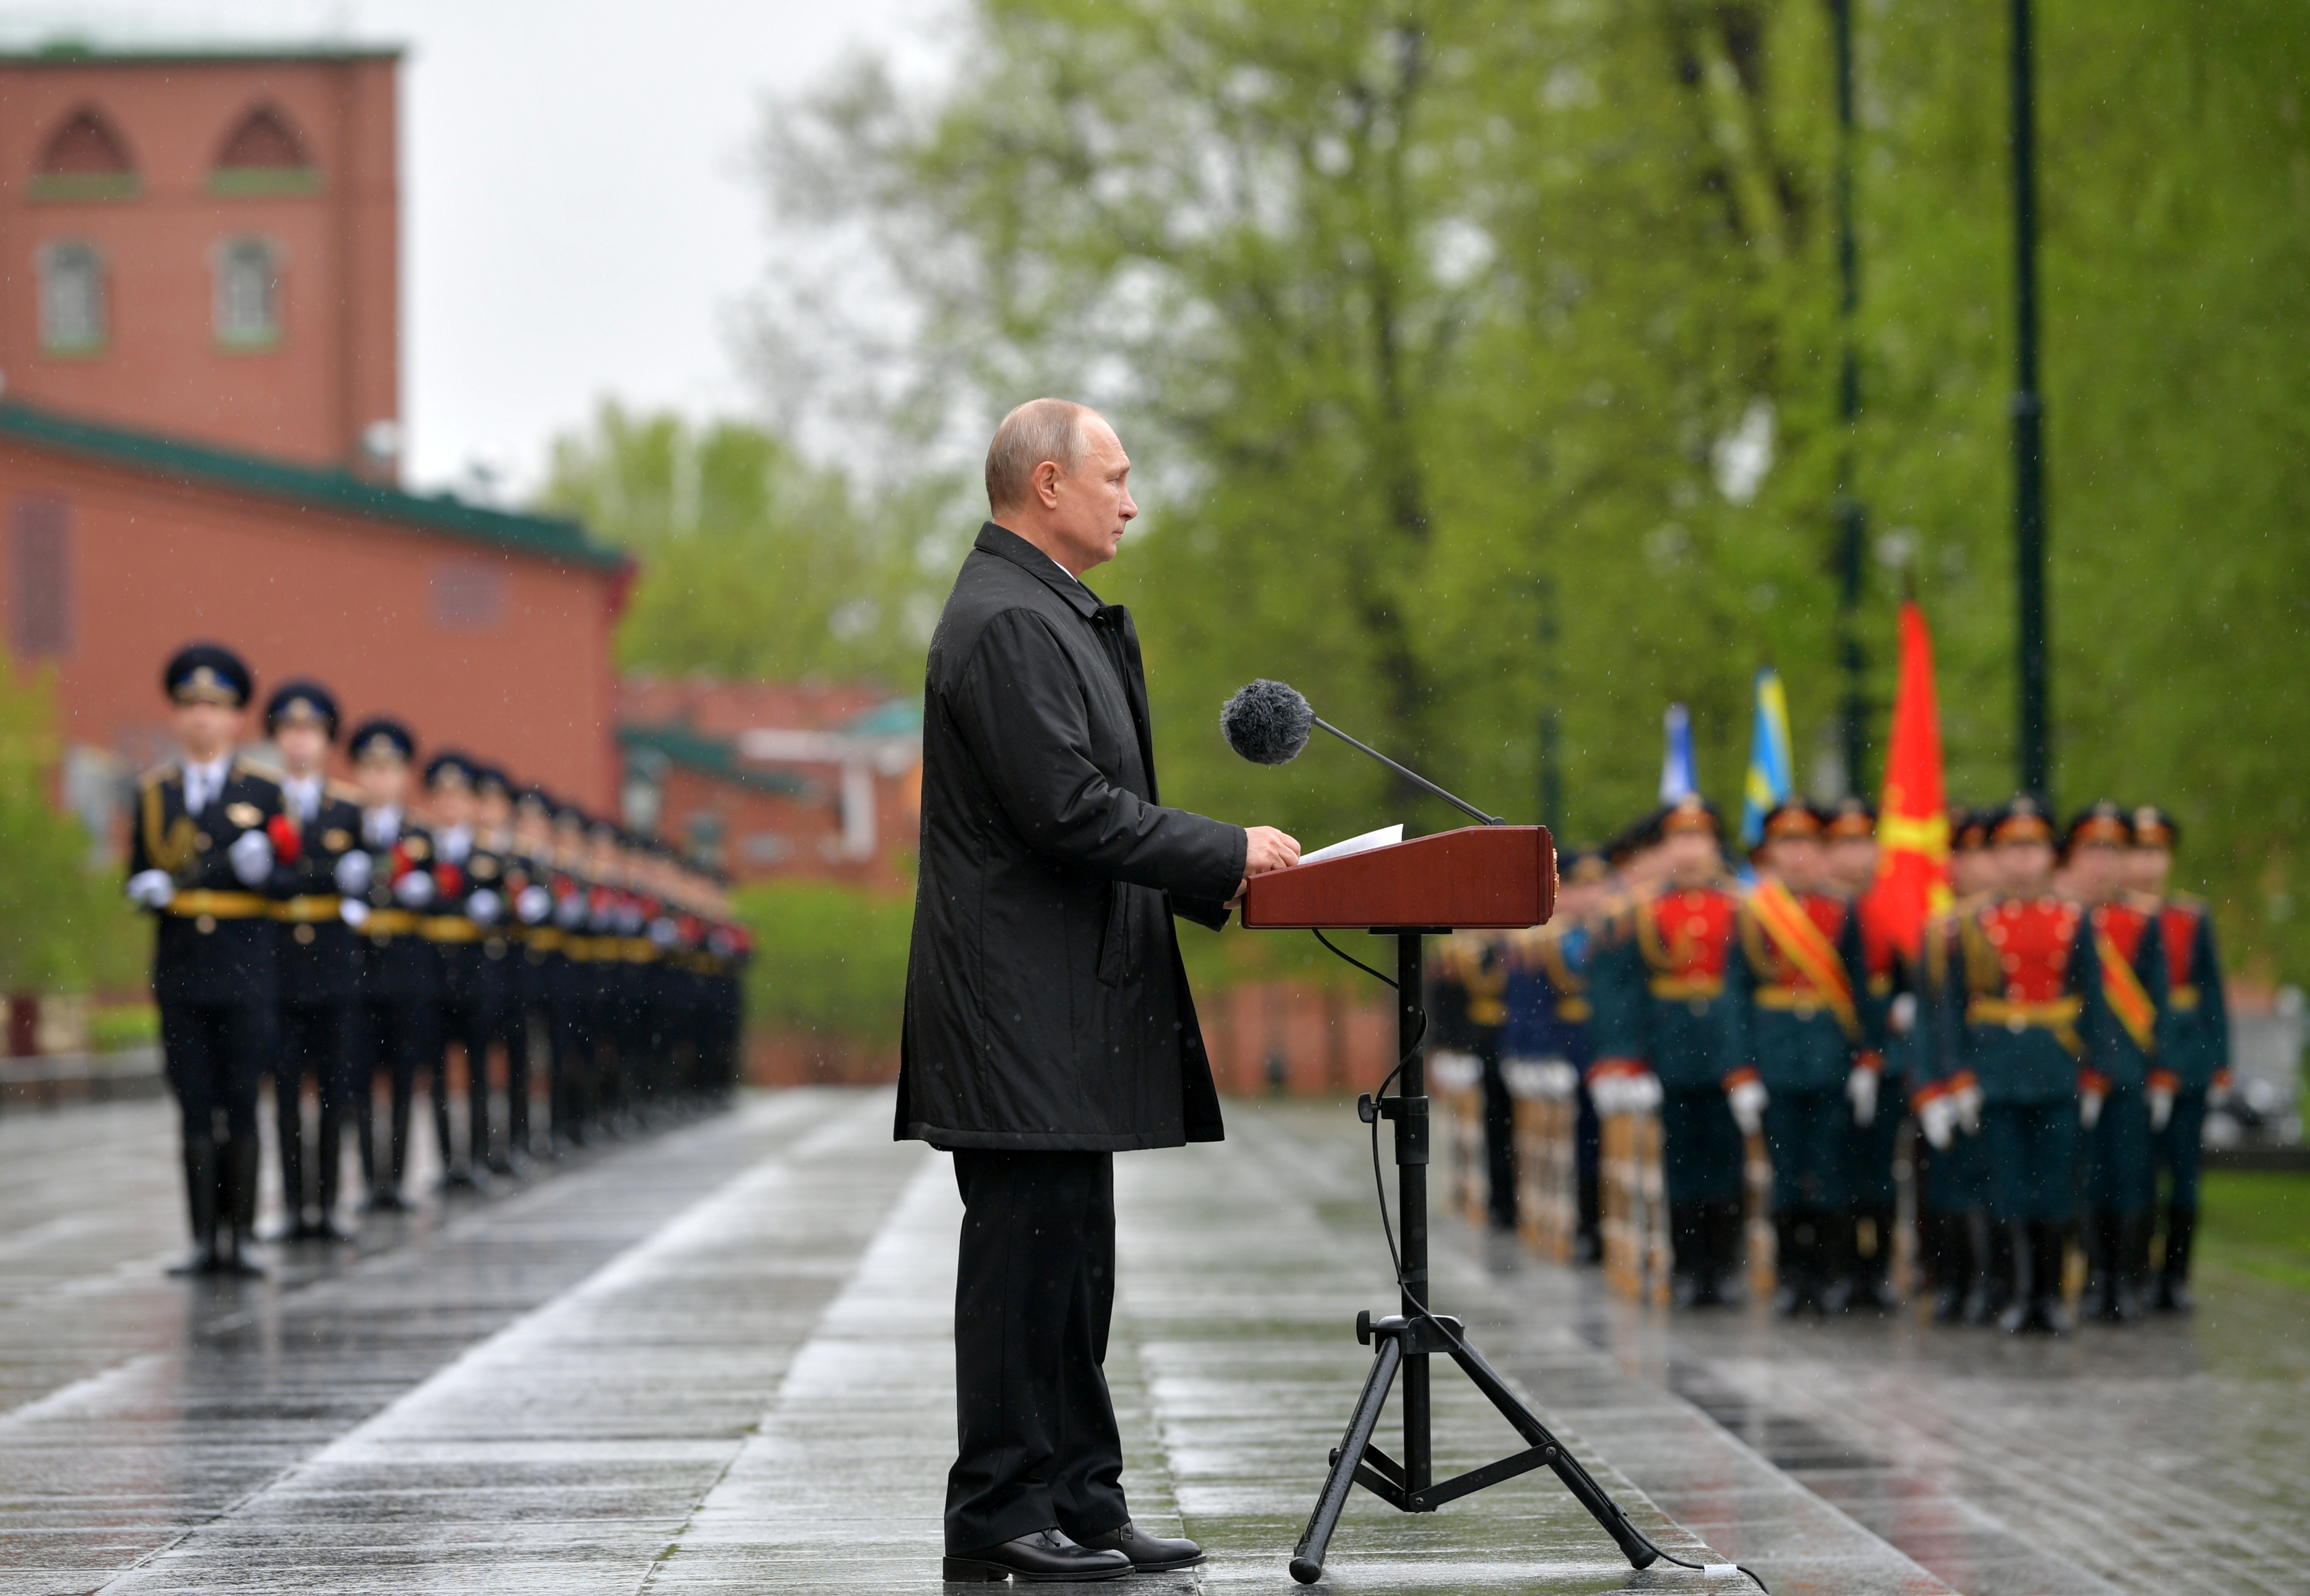
[[[367,917],[360,924],[360,1002],[353,1012],[356,1116],[370,1208],[407,1206],[409,1099],[418,1069],[434,1056],[441,1007],[441,961],[418,928],[432,905],[432,836],[409,815],[409,767],[416,737],[400,721],[374,718],[349,739],[360,788],[360,848],[370,857]],[[388,1136],[377,1146],[377,1074],[388,1079]]]

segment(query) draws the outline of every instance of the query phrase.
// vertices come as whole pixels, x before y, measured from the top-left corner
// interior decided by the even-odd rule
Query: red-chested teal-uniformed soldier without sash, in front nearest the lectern
[[[1721,827],[1705,799],[1672,804],[1656,834],[1659,845],[1640,852],[1659,857],[1659,885],[1629,905],[1617,968],[1596,982],[1589,1086],[1631,1072],[1659,1081],[1670,1300],[1707,1307],[1739,1291],[1744,1148],[1723,1086],[1726,961],[1739,905],[1723,882]]]

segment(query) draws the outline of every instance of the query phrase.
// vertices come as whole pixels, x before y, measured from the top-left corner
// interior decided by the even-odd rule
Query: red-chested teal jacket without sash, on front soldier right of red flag
[[[1957,940],[1952,1019],[1982,1102],[2074,1099],[2095,989],[2086,912],[2054,896],[1998,898],[1959,919]]]

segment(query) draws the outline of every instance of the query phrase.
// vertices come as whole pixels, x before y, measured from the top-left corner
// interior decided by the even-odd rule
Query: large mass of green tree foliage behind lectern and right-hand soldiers
[[[1571,836],[1649,797],[1686,700],[1737,799],[1758,663],[1799,755],[1832,744],[1846,485],[1871,693],[1913,582],[1952,790],[1994,799],[2007,9],[1855,14],[1850,432],[1820,0],[982,0],[945,97],[859,69],[772,173],[880,245],[945,413],[1118,420],[1150,513],[1093,582],[1139,614],[1167,797],[1310,838],[1448,818],[1337,748],[1234,762],[1217,702],[1277,674],[1515,818],[1555,714]],[[2278,0],[2040,5],[2061,797],[2174,806],[2234,947],[2296,975],[2305,58]]]

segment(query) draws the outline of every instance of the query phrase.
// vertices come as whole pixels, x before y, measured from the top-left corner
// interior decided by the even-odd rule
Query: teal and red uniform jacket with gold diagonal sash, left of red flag
[[[1760,892],[1742,896],[1726,961],[1728,1072],[1753,1067],[1767,1092],[1843,1090],[1853,1060],[1883,1046],[1862,917],[1843,898],[1786,892],[1779,908],[1793,908],[1804,931],[1790,952],[1774,938],[1774,905]]]

